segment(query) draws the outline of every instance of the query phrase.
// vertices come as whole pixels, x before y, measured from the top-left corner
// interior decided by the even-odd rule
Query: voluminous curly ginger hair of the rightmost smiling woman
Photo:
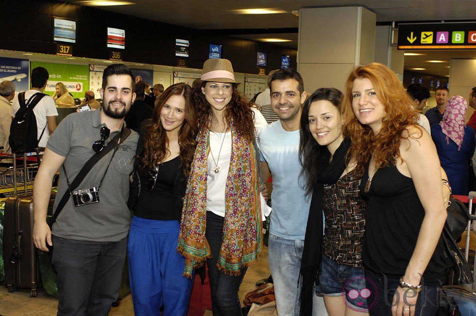
[[[352,85],[356,79],[367,78],[372,82],[378,100],[384,105],[386,116],[382,119],[382,128],[378,134],[361,124],[352,108]],[[418,111],[411,107],[412,100],[402,83],[391,69],[385,65],[372,63],[355,68],[345,83],[342,101],[344,120],[344,137],[350,137],[352,145],[347,153],[347,163],[351,159],[357,162],[356,169],[360,175],[375,152],[375,170],[383,166],[396,164],[400,155],[402,138],[420,138],[408,133],[410,125],[417,126]],[[404,133],[405,132],[405,133]],[[421,130],[420,130],[421,132]]]

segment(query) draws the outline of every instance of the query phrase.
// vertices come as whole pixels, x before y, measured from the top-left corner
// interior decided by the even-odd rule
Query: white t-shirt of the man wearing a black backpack
[[[30,100],[30,98],[37,93],[37,90],[28,90],[25,92],[25,103]],[[11,116],[15,116],[17,111],[20,109],[20,103],[18,102],[18,96],[13,99],[13,106],[12,111],[10,112]],[[47,116],[58,116],[58,111],[56,110],[56,105],[54,103],[53,98],[50,96],[43,97],[38,104],[33,109],[34,116],[36,117],[36,127],[38,129],[38,133],[36,137],[40,137],[43,129],[45,129],[45,133],[40,139],[38,143],[38,147],[46,147],[48,143],[48,139],[50,139],[50,132],[48,131],[48,127],[46,126],[48,121],[46,120]],[[46,127],[46,128],[45,128]]]

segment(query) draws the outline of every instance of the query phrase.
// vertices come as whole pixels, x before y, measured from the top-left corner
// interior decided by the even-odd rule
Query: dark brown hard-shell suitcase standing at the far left
[[[48,214],[52,215],[55,193],[51,193]],[[3,258],[5,286],[8,292],[30,288],[30,297],[37,296],[41,287],[38,254],[33,243],[32,194],[8,198],[5,201],[3,230]]]

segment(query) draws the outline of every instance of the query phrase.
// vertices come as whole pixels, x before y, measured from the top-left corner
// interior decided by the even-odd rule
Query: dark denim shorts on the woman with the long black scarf
[[[369,290],[365,285],[364,270],[340,263],[323,256],[321,276],[316,294],[325,296],[341,296],[347,307],[367,312]]]

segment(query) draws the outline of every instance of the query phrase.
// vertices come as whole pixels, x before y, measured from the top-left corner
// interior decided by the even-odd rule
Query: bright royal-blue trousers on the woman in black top
[[[183,276],[185,258],[177,252],[177,220],[134,216],[129,242],[129,279],[136,315],[187,315],[192,279]]]

